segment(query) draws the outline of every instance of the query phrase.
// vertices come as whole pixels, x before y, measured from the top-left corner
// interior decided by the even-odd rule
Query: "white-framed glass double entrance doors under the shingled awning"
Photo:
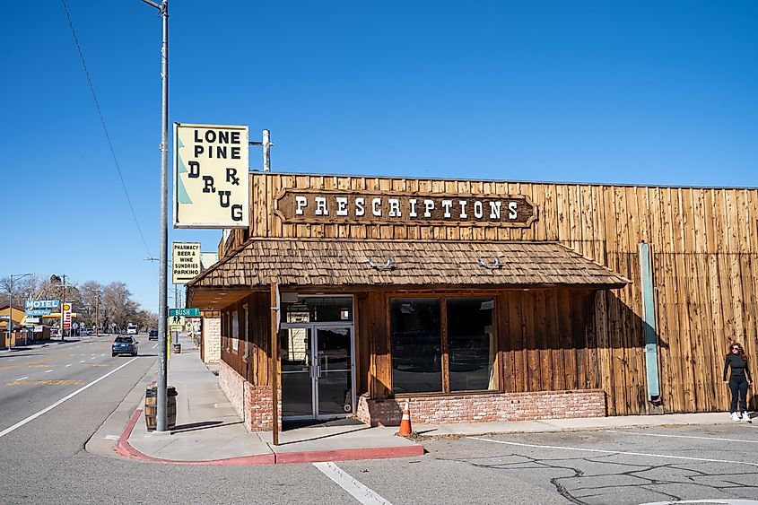
[[[283,419],[320,420],[352,414],[353,327],[288,326],[279,335]]]

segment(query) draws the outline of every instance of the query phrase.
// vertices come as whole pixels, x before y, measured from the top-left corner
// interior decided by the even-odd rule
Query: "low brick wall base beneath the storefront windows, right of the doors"
[[[358,399],[356,417],[370,426],[400,424],[404,398]],[[409,397],[411,420],[417,424],[536,421],[572,417],[605,417],[602,389],[492,393],[484,395]]]

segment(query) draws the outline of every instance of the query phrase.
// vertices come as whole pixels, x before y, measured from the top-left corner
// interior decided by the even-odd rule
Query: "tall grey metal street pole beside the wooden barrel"
[[[158,397],[156,431],[166,431],[166,387],[168,382],[168,355],[166,322],[168,318],[168,256],[169,256],[169,0],[156,4],[142,0],[161,13],[163,38],[161,43],[161,244],[160,274],[158,280]]]

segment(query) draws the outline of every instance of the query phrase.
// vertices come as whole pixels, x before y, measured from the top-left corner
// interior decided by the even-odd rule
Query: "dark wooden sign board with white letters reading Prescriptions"
[[[527,196],[285,189],[274,213],[287,223],[435,224],[529,227],[537,219]]]

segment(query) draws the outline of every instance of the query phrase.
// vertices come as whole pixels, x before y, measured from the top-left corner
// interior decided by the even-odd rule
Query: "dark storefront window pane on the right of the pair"
[[[450,391],[495,389],[492,298],[448,300]]]

